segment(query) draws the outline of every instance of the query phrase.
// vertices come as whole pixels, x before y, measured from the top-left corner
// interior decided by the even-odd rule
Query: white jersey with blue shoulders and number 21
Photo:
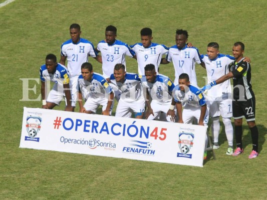
[[[96,57],[98,53],[91,41],[80,38],[76,44],[72,42],[72,39],[62,43],[61,55],[67,56],[70,75],[75,76],[81,74],[81,66],[84,62],[88,62],[88,56]]]

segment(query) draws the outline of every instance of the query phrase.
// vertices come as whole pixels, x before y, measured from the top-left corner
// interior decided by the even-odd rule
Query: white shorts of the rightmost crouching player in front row
[[[188,104],[186,104],[183,108],[183,122],[184,123],[189,123],[192,124],[194,119],[197,119],[197,122],[199,121],[200,117],[200,112],[201,112],[201,107],[193,107]],[[209,117],[209,111],[208,111],[208,106],[207,110],[204,116],[204,124],[208,124],[208,117]]]

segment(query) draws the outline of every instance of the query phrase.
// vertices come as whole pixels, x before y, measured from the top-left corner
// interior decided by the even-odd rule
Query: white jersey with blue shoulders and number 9
[[[147,64],[154,64],[156,72],[158,73],[158,67],[162,55],[167,54],[169,48],[163,44],[151,43],[147,48],[143,46],[142,43],[136,43],[130,45],[132,50],[136,53],[138,62],[138,73],[140,75],[145,75],[145,66]]]

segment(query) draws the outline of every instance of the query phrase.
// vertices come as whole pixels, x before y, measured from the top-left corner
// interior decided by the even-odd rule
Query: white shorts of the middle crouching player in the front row
[[[126,102],[122,98],[120,98],[115,116],[121,117],[129,117],[130,112],[133,111],[135,114],[142,114],[145,111],[145,99],[144,97],[139,98],[133,102]]]

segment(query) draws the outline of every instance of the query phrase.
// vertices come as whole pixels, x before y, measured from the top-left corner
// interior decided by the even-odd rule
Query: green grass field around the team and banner
[[[1,7],[0,199],[267,199],[266,8],[265,0],[15,0]],[[146,26],[154,42],[167,46],[175,44],[176,28],[186,29],[200,53],[216,41],[221,53],[231,54],[232,44],[242,41],[244,55],[252,60],[259,156],[247,158],[251,138],[245,122],[244,153],[225,155],[222,127],[217,159],[208,152],[203,168],[19,148],[23,107],[42,106],[41,100],[20,100],[20,78],[39,78],[48,53],[60,58],[72,23],[79,23],[82,37],[95,46],[110,24],[117,27],[117,38],[129,44],[140,41]],[[101,64],[90,62],[101,73]],[[127,58],[127,70],[137,72],[136,60]],[[160,70],[174,79],[172,63]],[[199,86],[204,85],[205,70],[198,65],[196,72]],[[40,84],[30,80],[29,87],[36,89],[29,97],[38,98]]]

